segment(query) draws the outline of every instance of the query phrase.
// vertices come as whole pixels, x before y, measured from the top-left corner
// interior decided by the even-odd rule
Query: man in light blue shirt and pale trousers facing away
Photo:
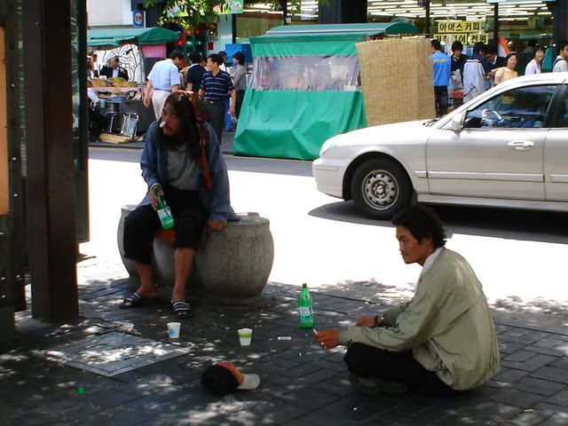
[[[159,120],[162,115],[166,99],[172,92],[179,90],[181,85],[179,65],[182,60],[184,60],[184,54],[181,51],[172,51],[170,59],[156,62],[148,75],[143,102],[145,106],[150,106],[150,99],[152,99],[156,120]]]

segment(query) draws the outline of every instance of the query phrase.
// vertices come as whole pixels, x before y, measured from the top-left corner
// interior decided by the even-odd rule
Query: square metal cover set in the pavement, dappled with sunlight
[[[136,335],[108,333],[36,353],[67,366],[99,375],[120,375],[155,362],[184,355],[188,350]]]

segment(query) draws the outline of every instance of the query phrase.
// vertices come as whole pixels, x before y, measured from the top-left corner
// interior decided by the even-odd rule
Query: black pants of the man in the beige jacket
[[[343,360],[355,375],[406,383],[410,390],[420,393],[454,392],[438,375],[422,367],[414,359],[412,351],[390,352],[363,343],[352,343]]]

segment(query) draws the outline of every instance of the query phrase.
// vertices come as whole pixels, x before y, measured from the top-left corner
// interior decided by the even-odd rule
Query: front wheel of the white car
[[[410,203],[412,185],[396,162],[377,158],[363,162],[351,179],[355,206],[367,217],[390,219]]]

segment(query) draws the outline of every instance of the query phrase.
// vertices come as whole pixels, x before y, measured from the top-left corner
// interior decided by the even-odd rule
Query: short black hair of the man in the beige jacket
[[[431,237],[434,248],[446,245],[446,231],[434,210],[424,206],[410,206],[392,218],[392,225],[405,227],[412,236],[422,242]]]

